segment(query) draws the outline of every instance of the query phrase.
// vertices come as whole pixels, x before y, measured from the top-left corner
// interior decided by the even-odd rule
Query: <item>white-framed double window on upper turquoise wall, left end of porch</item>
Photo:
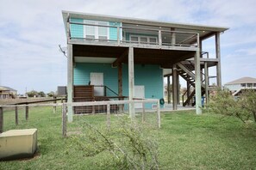
[[[92,24],[98,26],[84,26],[84,38],[85,39],[109,39],[109,22],[107,21],[91,21],[91,20],[84,20],[85,24]]]

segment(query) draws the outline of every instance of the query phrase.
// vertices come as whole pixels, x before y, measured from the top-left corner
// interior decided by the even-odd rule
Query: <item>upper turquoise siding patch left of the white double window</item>
[[[83,19],[71,18],[73,22],[84,23]],[[84,26],[71,24],[71,36],[72,38],[84,38]]]

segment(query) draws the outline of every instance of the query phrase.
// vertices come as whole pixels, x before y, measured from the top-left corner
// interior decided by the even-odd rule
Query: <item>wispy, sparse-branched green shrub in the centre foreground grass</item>
[[[145,126],[122,119],[117,126],[98,130],[84,122],[83,134],[73,137],[84,156],[107,155],[97,164],[115,169],[159,169],[158,147]],[[115,139],[115,140],[114,140]]]

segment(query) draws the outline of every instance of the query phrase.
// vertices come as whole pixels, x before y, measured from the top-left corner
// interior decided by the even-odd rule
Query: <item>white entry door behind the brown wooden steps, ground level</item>
[[[91,85],[103,86],[103,73],[91,73]],[[95,96],[104,95],[104,87],[94,87]]]

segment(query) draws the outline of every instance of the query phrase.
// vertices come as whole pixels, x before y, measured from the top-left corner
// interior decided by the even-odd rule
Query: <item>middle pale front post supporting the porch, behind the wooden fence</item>
[[[128,88],[129,100],[134,100],[134,47],[129,47],[128,52]],[[129,104],[129,116],[135,116],[134,103]]]

